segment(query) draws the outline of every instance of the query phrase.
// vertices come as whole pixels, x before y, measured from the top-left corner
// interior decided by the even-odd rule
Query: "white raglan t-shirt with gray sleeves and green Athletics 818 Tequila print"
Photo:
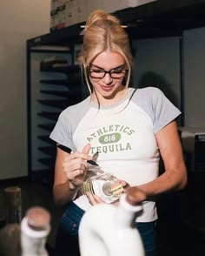
[[[50,138],[73,152],[90,144],[89,154],[98,152],[99,167],[89,165],[89,174],[109,172],[131,186],[156,179],[159,150],[155,133],[180,115],[180,111],[155,87],[129,88],[120,102],[101,105],[90,97],[62,111]],[[75,200],[87,211],[91,205],[85,195]],[[137,222],[157,219],[155,201],[143,202]]]

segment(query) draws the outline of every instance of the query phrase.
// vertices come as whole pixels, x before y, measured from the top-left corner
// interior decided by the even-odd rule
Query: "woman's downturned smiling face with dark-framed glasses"
[[[125,90],[122,80],[126,69],[124,58],[114,51],[102,52],[89,64],[89,80],[100,104],[112,104],[122,98]],[[95,95],[93,97],[95,100]]]

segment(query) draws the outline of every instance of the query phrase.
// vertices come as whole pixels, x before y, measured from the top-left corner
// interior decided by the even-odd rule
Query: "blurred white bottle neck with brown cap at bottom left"
[[[32,207],[21,222],[22,256],[49,256],[45,248],[50,233],[50,213],[42,207]]]

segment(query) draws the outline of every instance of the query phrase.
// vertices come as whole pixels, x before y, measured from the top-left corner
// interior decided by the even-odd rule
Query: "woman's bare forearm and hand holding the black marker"
[[[90,145],[83,152],[67,153],[56,148],[56,165],[53,195],[56,204],[65,205],[76,198],[80,185],[83,184],[88,169]]]

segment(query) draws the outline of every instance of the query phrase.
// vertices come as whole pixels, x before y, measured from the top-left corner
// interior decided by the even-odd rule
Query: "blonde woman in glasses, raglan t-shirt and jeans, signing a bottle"
[[[137,188],[146,195],[136,227],[146,255],[155,255],[155,197],[182,189],[187,182],[175,123],[181,112],[156,88],[129,88],[128,35],[116,17],[102,10],[94,11],[85,25],[80,61],[90,96],[64,110],[50,135],[70,149],[67,153],[57,147],[56,153],[54,199],[68,204],[56,236],[57,255],[78,253],[83,212],[102,203],[96,195],[78,195],[95,169],[88,160],[96,152],[102,172],[115,175],[124,190],[130,186],[134,194]],[[161,176],[160,155],[165,167]]]

